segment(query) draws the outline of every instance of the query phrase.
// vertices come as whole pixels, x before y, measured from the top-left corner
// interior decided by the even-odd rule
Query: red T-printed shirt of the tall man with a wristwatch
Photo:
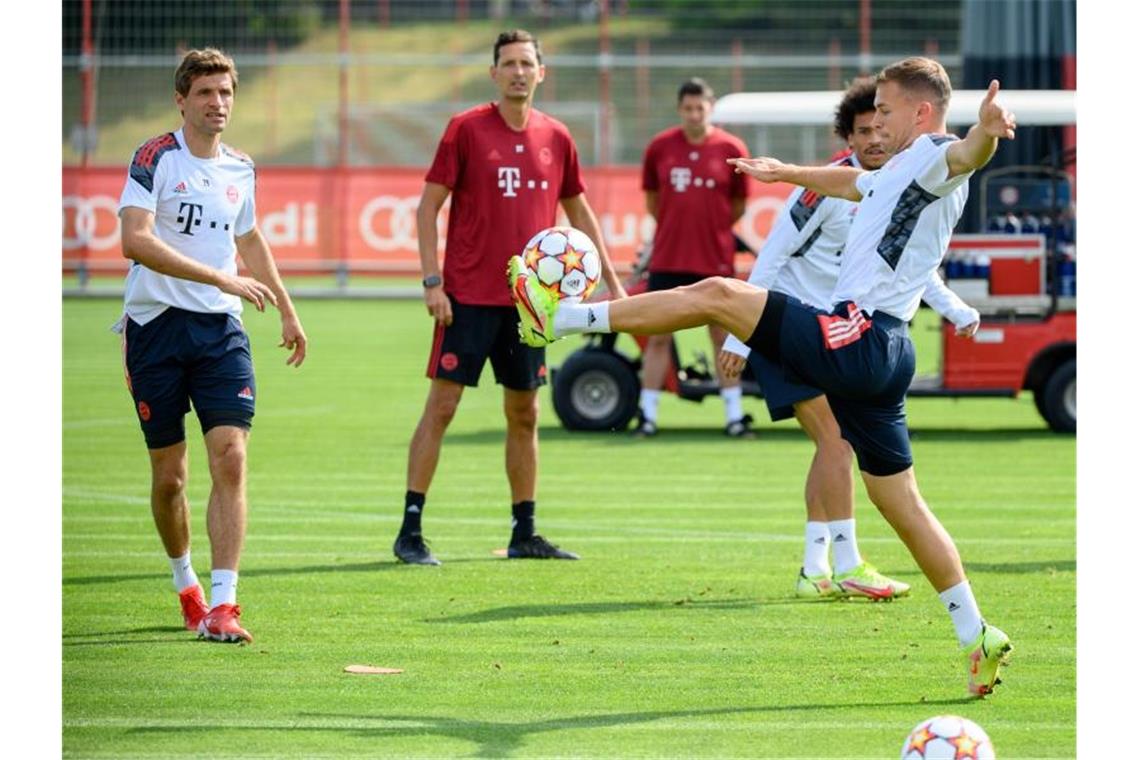
[[[562,122],[531,109],[516,131],[494,103],[451,119],[424,179],[451,190],[443,289],[473,305],[511,305],[507,259],[586,189]]]

